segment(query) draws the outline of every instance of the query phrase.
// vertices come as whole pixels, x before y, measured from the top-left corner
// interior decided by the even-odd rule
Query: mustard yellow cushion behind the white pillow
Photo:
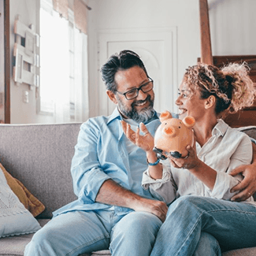
[[[19,198],[20,202],[23,203],[26,209],[28,209],[32,215],[38,216],[40,213],[43,212],[45,209],[45,206],[42,202],[39,201],[38,198],[35,198],[34,195],[30,191],[28,191],[27,187],[24,186],[20,182],[20,180],[17,180],[11,176],[6,169],[2,166],[0,163],[0,168],[2,169],[2,172],[6,176],[7,184],[11,188],[11,190],[14,192],[15,195]]]

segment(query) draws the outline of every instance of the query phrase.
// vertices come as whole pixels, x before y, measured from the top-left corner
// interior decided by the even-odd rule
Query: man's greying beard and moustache
[[[139,112],[135,109],[135,104],[141,104],[145,101],[150,102],[150,106],[147,106],[144,109],[141,109]],[[117,96],[118,109],[124,115],[124,117],[128,117],[135,121],[136,123],[146,123],[150,121],[152,117],[154,117],[154,98],[151,99],[150,95],[147,96],[145,101],[136,101],[132,103],[131,109],[128,109],[127,106],[121,101]]]

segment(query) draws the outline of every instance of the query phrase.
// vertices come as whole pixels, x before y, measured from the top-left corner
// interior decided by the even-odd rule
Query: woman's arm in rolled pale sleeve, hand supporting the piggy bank
[[[234,139],[236,139],[236,142]],[[234,139],[234,145],[230,148],[227,147],[228,151],[220,151],[225,153],[224,155],[226,155],[226,157],[224,157],[224,155],[222,156],[220,153],[219,158],[221,158],[221,160],[224,162],[221,165],[216,165],[216,171],[211,168],[211,165],[208,166],[198,159],[193,148],[188,148],[188,158],[171,158],[171,163],[174,165],[174,167],[188,169],[193,175],[201,180],[206,187],[210,189],[209,192],[211,196],[230,200],[232,196],[235,195],[235,192],[232,193],[230,190],[232,187],[239,184],[239,182],[242,180],[242,176],[238,175],[233,177],[229,173],[232,169],[235,169],[236,166],[250,163],[252,158],[252,147],[250,139],[247,137],[247,135],[236,135]],[[228,141],[226,144],[229,146]],[[224,147],[221,147],[221,150],[223,149]]]

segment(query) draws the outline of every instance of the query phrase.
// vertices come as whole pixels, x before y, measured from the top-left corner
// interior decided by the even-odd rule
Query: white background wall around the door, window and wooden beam
[[[177,83],[188,65],[200,56],[198,0],[87,0],[90,116],[99,112],[98,32],[106,29],[169,28],[176,27]],[[213,55],[256,54],[255,0],[208,0]],[[17,14],[26,25],[35,24],[39,33],[39,0],[10,0],[10,46],[13,61],[13,24]],[[11,67],[13,69],[13,67]],[[174,84],[178,86],[178,84]],[[28,85],[10,87],[11,123],[49,123],[52,117],[36,113],[35,90],[29,91],[29,103],[24,103],[23,91]],[[105,106],[103,106],[105,107]]]

